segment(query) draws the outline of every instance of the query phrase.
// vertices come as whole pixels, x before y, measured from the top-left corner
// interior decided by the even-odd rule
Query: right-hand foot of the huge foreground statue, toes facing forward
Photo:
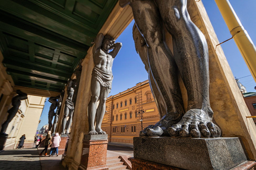
[[[201,109],[191,109],[186,112],[181,121],[168,128],[171,137],[209,138],[220,137],[221,130],[212,123],[212,118]]]

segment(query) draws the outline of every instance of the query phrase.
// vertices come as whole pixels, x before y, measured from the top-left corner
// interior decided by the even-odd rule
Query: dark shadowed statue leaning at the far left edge
[[[12,106],[13,107],[7,111],[7,113],[8,113],[7,120],[2,124],[2,129],[1,129],[0,134],[7,135],[4,132],[6,131],[8,124],[12,121],[12,119],[18,112],[19,106],[21,105],[21,100],[25,100],[28,98],[27,94],[21,92],[21,90],[16,90],[16,93],[17,93],[17,95],[12,98]]]

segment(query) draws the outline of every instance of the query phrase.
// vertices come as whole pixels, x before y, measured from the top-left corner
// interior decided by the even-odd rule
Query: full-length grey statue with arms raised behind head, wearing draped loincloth
[[[106,111],[106,99],[112,87],[113,61],[122,47],[122,43],[115,43],[114,38],[99,33],[93,47],[94,68],[91,77],[91,100],[88,105],[89,132],[88,134],[106,134],[101,129],[101,123]],[[113,49],[110,52],[110,49]],[[99,106],[97,108],[97,101]],[[96,127],[94,127],[96,117]]]

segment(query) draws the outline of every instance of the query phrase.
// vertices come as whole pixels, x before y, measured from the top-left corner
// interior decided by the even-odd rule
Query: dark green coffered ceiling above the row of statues
[[[0,0],[0,49],[15,85],[60,92],[117,0]]]

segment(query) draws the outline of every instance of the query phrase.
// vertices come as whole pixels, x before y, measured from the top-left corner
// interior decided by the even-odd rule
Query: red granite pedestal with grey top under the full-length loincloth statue
[[[79,170],[105,170],[107,135],[84,135],[83,152]]]

